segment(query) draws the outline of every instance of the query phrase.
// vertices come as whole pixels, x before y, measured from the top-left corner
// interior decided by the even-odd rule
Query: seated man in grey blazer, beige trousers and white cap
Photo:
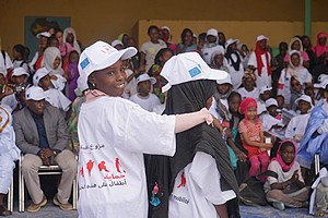
[[[61,181],[54,204],[61,209],[72,209],[68,203],[72,182],[77,174],[77,160],[69,148],[69,134],[63,116],[58,108],[46,104],[45,93],[33,86],[26,90],[26,107],[14,114],[13,126],[16,144],[25,154],[22,172],[33,203],[27,211],[37,211],[47,204],[40,190],[38,168],[42,165],[58,165]]]

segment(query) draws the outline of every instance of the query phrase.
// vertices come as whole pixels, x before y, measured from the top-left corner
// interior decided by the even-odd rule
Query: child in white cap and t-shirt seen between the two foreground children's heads
[[[140,105],[147,111],[152,112],[153,108],[161,105],[156,95],[150,93],[152,85],[156,83],[154,77],[150,77],[147,73],[139,75],[137,78],[138,93],[130,97],[132,102]]]

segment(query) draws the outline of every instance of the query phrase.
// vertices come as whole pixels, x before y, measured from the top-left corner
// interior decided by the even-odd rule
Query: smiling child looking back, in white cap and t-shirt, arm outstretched
[[[207,109],[157,116],[120,96],[137,49],[96,41],[81,53],[79,71],[91,90],[79,114],[79,217],[147,217],[143,153],[173,156],[175,133],[212,121]]]

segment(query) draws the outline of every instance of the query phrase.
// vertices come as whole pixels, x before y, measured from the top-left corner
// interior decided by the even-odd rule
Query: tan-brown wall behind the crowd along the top
[[[313,40],[318,31],[328,31],[327,8],[326,0],[312,1]],[[25,16],[68,16],[84,46],[97,39],[113,40],[122,32],[140,36],[139,41],[143,43],[148,39],[143,33],[148,21],[169,21],[172,25],[165,25],[173,29],[175,41],[183,27],[187,27],[183,25],[190,24],[188,27],[196,33],[213,26],[226,32],[226,37],[239,38],[249,45],[256,35],[266,34],[274,47],[278,41],[303,33],[304,1],[0,0],[0,11],[1,45],[10,53],[13,45],[25,43]],[[164,25],[164,22],[157,24]]]

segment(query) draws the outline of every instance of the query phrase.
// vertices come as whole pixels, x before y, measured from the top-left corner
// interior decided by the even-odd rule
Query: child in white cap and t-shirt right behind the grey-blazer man
[[[52,88],[49,71],[46,68],[38,69],[33,75],[33,85],[44,89],[46,100],[54,107],[68,111],[71,106],[68,99],[60,90]]]

